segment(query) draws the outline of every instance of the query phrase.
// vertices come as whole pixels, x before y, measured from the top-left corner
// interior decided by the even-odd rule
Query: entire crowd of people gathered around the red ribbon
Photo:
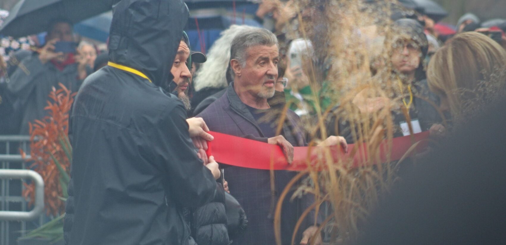
[[[271,13],[270,30],[232,25],[204,55],[191,50],[181,1],[123,0],[107,51],[81,41],[75,52],[58,52],[57,43],[74,41],[72,23],[58,18],[44,46],[2,64],[2,134],[28,134],[28,123],[47,115],[53,87],[77,92],[66,244],[275,244],[275,204],[297,173],[226,166],[224,175],[206,154],[209,130],[279,145],[290,163],[294,146],[315,140],[347,152],[359,140],[355,125],[367,122],[344,111],[389,108],[394,137],[430,131],[441,139],[504,95],[506,20],[466,14],[442,32],[430,15],[394,11],[389,64],[379,64],[391,69],[370,67],[393,94],[364,88],[352,109],[338,105],[325,72],[311,71],[325,66],[315,58],[319,43],[280,34],[298,15],[288,9],[260,3],[257,19],[268,27]],[[318,124],[316,115],[326,116],[319,134],[301,121]],[[313,202],[311,194],[281,200],[281,244],[291,244],[296,225],[298,243],[324,242],[315,210],[297,222]]]

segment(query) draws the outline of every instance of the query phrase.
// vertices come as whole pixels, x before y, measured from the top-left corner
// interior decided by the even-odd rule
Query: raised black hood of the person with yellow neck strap
[[[113,8],[109,60],[144,73],[155,85],[172,81],[188,7],[182,0],[123,0]]]

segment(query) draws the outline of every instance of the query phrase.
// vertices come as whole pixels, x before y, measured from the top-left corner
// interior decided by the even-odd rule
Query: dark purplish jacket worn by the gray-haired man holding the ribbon
[[[209,105],[197,117],[204,119],[209,130],[267,142],[267,137],[264,136],[258,123],[234,91],[233,84],[232,82],[225,94]],[[282,92],[276,92],[273,97],[273,100],[279,99],[284,102]],[[271,102],[269,101],[269,105],[274,109],[284,106],[283,104],[274,106]],[[298,130],[298,123],[298,116],[293,111],[288,110],[282,135],[293,146],[304,146],[306,144],[304,133]],[[225,173],[230,193],[237,199],[248,218],[248,226],[244,234],[236,238],[233,244],[275,244],[274,212],[271,202],[273,200],[277,202],[283,188],[297,173],[275,171],[275,193],[271,192],[269,170],[229,166],[225,169]],[[274,194],[274,197],[271,194]],[[290,197],[291,194],[289,193],[287,196]],[[308,202],[308,199],[304,198],[295,199],[292,202],[287,199],[284,200],[281,214],[282,244],[290,243],[293,227],[302,211],[309,206]],[[303,231],[308,226],[303,224],[301,230]]]

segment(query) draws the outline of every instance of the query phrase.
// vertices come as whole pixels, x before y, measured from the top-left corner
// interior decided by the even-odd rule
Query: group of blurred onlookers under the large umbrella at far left
[[[75,92],[88,75],[107,63],[106,52],[87,41],[76,44],[74,52],[55,51],[57,42],[75,42],[72,25],[68,19],[53,19],[43,46],[12,52],[7,62],[2,61],[1,134],[28,135],[28,123],[48,115],[44,108],[52,87],[61,83]]]

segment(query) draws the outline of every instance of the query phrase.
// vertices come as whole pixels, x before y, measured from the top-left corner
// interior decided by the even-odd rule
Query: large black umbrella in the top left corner
[[[0,27],[0,34],[21,37],[45,31],[49,21],[67,18],[73,23],[112,9],[119,0],[21,0]]]

